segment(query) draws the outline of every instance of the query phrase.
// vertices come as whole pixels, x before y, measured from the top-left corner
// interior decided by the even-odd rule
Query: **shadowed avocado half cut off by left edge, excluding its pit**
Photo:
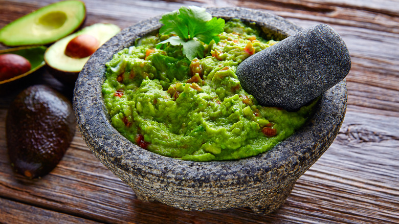
[[[35,46],[35,47],[18,47],[18,48],[10,48],[6,50],[0,50],[0,55],[3,54],[16,54],[26,58],[31,64],[31,69],[28,72],[23,74],[14,76],[12,78],[1,80],[0,84],[11,82],[17,80],[19,78],[25,77],[36,70],[40,69],[43,65],[45,65],[44,54],[46,52],[47,47],[45,46]]]

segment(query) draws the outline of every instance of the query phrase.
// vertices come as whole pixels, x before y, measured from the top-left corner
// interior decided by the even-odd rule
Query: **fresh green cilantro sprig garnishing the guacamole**
[[[190,6],[181,7],[179,11],[166,13],[160,19],[164,26],[160,29],[160,34],[174,34],[169,39],[157,44],[157,49],[163,48],[166,43],[173,46],[182,45],[183,54],[189,60],[202,58],[205,48],[200,42],[209,44],[212,40],[216,43],[220,38],[217,34],[224,31],[225,20],[212,17],[206,9]]]

